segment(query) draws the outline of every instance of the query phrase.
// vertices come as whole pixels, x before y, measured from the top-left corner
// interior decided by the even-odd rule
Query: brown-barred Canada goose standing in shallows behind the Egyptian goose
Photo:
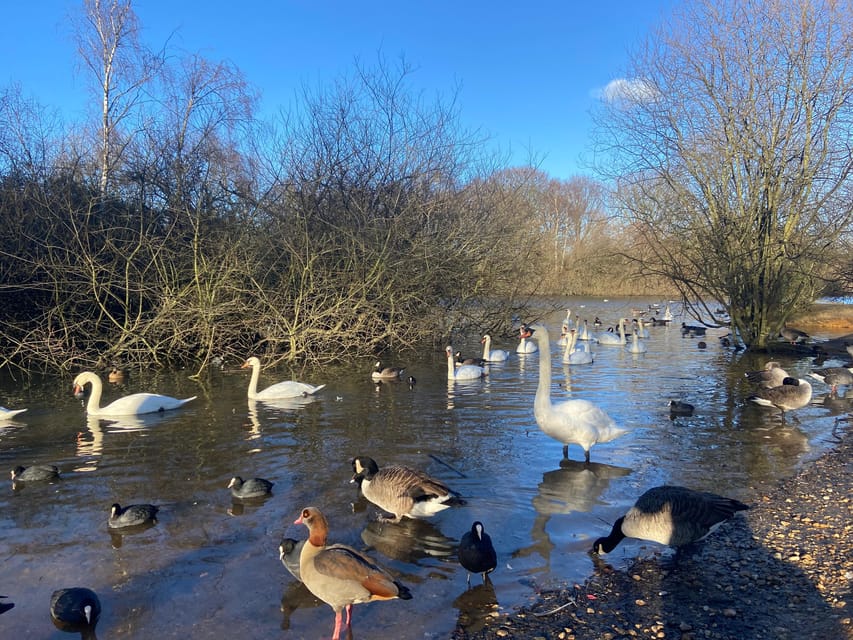
[[[428,518],[439,511],[459,503],[459,495],[441,480],[423,471],[403,466],[379,468],[373,458],[359,456],[352,460],[351,482],[361,486],[361,493],[380,509],[393,513],[399,522],[408,518]]]

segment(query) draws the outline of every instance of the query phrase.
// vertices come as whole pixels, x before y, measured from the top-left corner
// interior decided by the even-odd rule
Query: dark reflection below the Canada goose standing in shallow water
[[[398,523],[370,522],[361,539],[385,557],[409,564],[418,564],[424,558],[448,558],[456,551],[455,542],[433,523],[411,518]]]

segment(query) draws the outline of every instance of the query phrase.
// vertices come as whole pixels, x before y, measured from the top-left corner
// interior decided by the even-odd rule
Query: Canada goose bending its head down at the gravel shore
[[[677,554],[744,509],[749,507],[714,493],[672,485],[654,487],[613,523],[610,535],[595,541],[592,552],[610,553],[623,538],[639,538],[674,547]]]

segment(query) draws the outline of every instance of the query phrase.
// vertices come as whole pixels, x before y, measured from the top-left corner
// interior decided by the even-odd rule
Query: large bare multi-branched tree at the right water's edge
[[[643,267],[711,322],[722,304],[751,348],[819,294],[853,220],[851,61],[848,2],[700,0],[648,39],[598,113]]]

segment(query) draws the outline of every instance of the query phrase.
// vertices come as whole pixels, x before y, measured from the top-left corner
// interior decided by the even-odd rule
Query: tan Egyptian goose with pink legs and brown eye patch
[[[335,612],[332,640],[340,639],[344,609],[349,629],[354,604],[411,600],[411,592],[367,556],[346,545],[327,545],[329,524],[316,507],[303,509],[294,524],[308,527],[308,540],[299,554],[299,575],[308,590]]]

